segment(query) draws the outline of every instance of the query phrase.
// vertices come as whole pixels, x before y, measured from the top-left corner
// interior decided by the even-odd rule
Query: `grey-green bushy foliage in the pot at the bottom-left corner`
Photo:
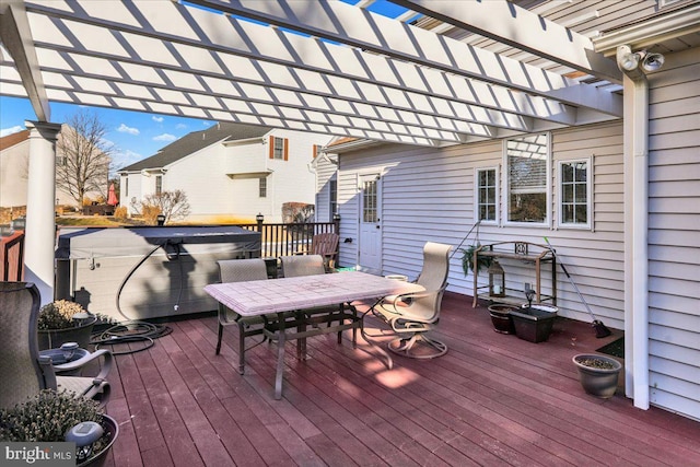
[[[103,412],[96,401],[75,398],[73,393],[44,389],[24,404],[0,410],[0,441],[61,442],[68,430],[84,421],[103,424]],[[93,444],[93,452],[102,451],[109,436],[105,432]]]

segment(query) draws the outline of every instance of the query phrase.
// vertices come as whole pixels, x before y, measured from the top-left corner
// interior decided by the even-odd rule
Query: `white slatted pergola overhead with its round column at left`
[[[51,102],[430,147],[622,116],[622,74],[568,1],[394,0],[395,17],[381,3],[0,0],[1,94],[36,113],[25,265],[43,301]]]

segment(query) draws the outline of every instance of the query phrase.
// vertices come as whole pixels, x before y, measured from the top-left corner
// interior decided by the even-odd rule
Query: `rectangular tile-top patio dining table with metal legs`
[[[278,342],[277,373],[275,377],[275,398],[282,397],[282,378],[284,372],[284,343],[287,340],[305,339],[328,332],[353,329],[362,329],[362,319],[357,316],[352,305],[352,314],[345,313],[342,304],[351,304],[355,301],[378,300],[386,295],[421,292],[424,289],[412,282],[388,279],[366,272],[349,271],[316,276],[302,276],[293,278],[255,280],[245,282],[230,282],[209,284],[205,291],[234,310],[242,316],[260,316],[271,313],[278,314],[277,325],[266,328],[266,334]],[[323,319],[327,327],[317,326],[318,317],[310,317],[310,320],[295,320],[298,326],[287,325],[284,314],[287,312],[303,311],[308,308],[339,305],[338,312],[328,308]],[[303,315],[303,314],[302,314]],[[312,328],[306,329],[306,325]],[[364,334],[364,332],[363,332]],[[372,342],[368,340],[372,346]],[[305,348],[301,346],[300,349]],[[392,359],[386,352],[387,367],[392,366]]]

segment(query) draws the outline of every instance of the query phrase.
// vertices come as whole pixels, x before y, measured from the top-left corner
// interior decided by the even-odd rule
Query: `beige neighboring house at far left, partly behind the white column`
[[[63,125],[61,132],[67,130],[68,126]],[[57,164],[60,163],[60,161],[61,155],[57,154]],[[18,131],[16,133],[0,138],[0,208],[26,206],[28,164],[30,130]],[[104,185],[104,194],[106,194],[106,179]],[[89,191],[85,196],[94,200],[100,196],[104,196],[104,194],[100,191]],[[69,194],[57,188],[56,203],[75,206],[75,200]]]

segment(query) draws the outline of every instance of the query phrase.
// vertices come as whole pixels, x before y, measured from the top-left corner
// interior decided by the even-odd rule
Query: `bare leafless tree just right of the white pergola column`
[[[86,192],[97,191],[106,198],[112,153],[105,140],[106,125],[96,113],[73,114],[57,142],[56,187],[82,206]]]

